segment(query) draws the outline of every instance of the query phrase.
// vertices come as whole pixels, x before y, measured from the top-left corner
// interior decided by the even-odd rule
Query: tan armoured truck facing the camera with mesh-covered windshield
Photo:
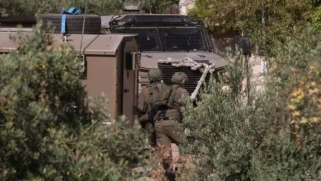
[[[199,70],[189,66],[175,67],[159,60],[175,60],[190,57],[198,63],[215,64],[214,74],[224,72],[224,59],[213,52],[212,41],[205,24],[178,14],[146,14],[139,3],[125,3],[119,14],[101,17],[101,32],[138,34],[141,52],[141,85],[147,84],[147,72],[152,67],[161,68],[163,81],[172,84],[176,71],[189,76],[186,88],[192,94],[202,76]],[[210,76],[206,77],[206,81]]]

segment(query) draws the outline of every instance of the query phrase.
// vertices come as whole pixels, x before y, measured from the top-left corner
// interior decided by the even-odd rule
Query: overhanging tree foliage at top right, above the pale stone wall
[[[304,28],[313,10],[310,0],[199,0],[196,6],[194,17],[203,19],[214,32],[239,30],[251,37],[252,45],[259,43],[259,53],[264,56],[275,55],[275,43],[284,42],[293,26]]]

